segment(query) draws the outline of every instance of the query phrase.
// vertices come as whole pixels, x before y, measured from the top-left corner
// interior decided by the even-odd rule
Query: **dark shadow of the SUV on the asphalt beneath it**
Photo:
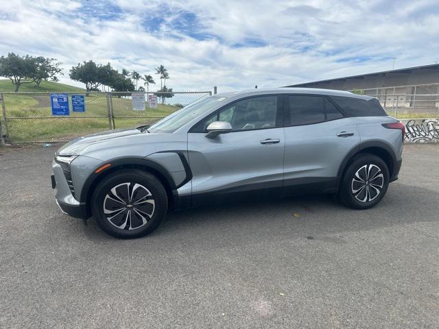
[[[438,191],[395,182],[380,204],[368,210],[342,206],[328,195],[258,199],[169,212],[161,226],[138,241],[185,241],[185,245],[250,243],[258,239],[309,238],[348,231],[375,230],[418,221],[438,221]],[[88,219],[84,234],[93,241],[117,240]]]

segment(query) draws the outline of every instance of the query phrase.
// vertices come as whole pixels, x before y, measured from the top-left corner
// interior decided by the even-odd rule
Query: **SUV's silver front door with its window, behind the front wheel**
[[[224,106],[191,129],[193,204],[235,192],[281,190],[285,138],[280,104],[278,95],[248,97]],[[229,122],[233,131],[206,138],[206,127],[214,121]]]

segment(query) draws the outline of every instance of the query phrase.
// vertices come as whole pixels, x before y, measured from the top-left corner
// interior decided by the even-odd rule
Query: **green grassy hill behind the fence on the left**
[[[26,84],[20,88],[20,92],[23,94],[13,93],[13,91],[14,86],[10,80],[0,80],[0,93],[8,93],[4,96],[9,139],[12,142],[67,141],[76,136],[109,129],[107,99],[104,93],[86,95],[82,88],[56,82],[42,82],[40,88]],[[12,94],[10,94],[11,92]],[[69,97],[69,117],[54,117],[51,114],[48,94],[32,95],[24,94],[24,92],[75,92],[86,95],[86,111],[72,112]],[[180,108],[179,106],[162,104],[158,104],[157,108],[148,108],[146,103],[145,111],[134,111],[129,96],[127,94],[124,97],[112,97],[116,128],[150,124]],[[4,122],[3,130],[5,130]]]

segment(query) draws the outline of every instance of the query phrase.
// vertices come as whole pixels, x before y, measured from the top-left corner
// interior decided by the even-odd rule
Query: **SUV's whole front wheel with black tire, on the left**
[[[151,173],[124,169],[99,182],[91,203],[93,217],[102,230],[120,239],[132,239],[149,234],[161,223],[167,211],[167,194]]]

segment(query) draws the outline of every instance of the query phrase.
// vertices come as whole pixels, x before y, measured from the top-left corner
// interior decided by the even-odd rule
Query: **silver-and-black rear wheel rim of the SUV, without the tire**
[[[375,164],[365,164],[354,174],[351,192],[359,202],[371,202],[378,197],[384,186],[384,175]]]

